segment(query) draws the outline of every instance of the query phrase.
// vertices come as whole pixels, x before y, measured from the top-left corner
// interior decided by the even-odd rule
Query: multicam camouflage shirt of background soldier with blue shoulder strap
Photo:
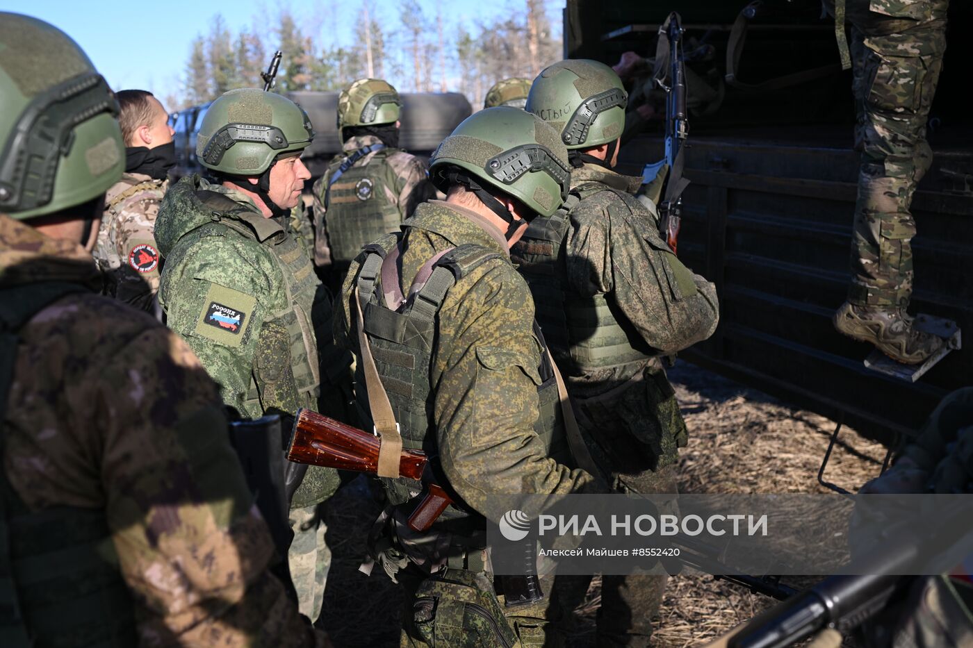
[[[335,156],[328,164],[328,170],[324,175],[317,179],[311,190],[314,196],[314,264],[318,268],[328,268],[332,266],[333,259],[331,247],[328,244],[328,219],[325,214],[324,194],[328,188],[328,180],[332,173],[341,165],[347,156],[358,149],[380,144],[381,140],[374,135],[363,135],[359,137],[349,137],[342,147],[342,154]],[[356,167],[364,166],[372,162],[376,153],[370,153],[358,162]],[[429,172],[425,162],[405,151],[395,150],[384,155],[384,164],[381,168],[376,168],[375,186],[380,187],[385,194],[387,202],[398,206],[401,220],[404,221],[412,216],[415,205],[436,196],[436,188],[429,182]],[[391,186],[385,182],[386,171],[391,171],[394,182]],[[380,218],[380,215],[378,216]],[[362,240],[361,244],[370,243],[370,240]],[[342,269],[343,270],[343,269]],[[340,283],[339,283],[340,285]]]

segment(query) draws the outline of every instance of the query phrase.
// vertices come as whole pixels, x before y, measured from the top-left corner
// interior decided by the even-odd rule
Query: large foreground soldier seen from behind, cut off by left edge
[[[97,295],[80,242],[125,167],[117,115],[67,35],[0,12],[0,643],[321,645],[268,570],[217,385]]]

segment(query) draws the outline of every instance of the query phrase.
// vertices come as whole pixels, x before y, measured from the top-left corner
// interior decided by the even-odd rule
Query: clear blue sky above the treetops
[[[517,8],[523,0],[419,0],[426,16],[434,16],[442,5],[448,24],[465,23],[470,28],[479,19],[492,19]],[[548,0],[549,15],[559,20],[563,0]],[[399,3],[377,0],[378,14],[386,29],[399,26]],[[306,32],[327,45],[348,45],[352,24],[361,10],[359,0],[3,0],[0,9],[34,16],[51,22],[74,38],[88,53],[95,67],[116,89],[140,88],[164,97],[179,89],[190,45],[198,34],[208,32],[209,20],[222,14],[228,27],[253,29],[273,24],[278,7],[289,7],[295,16],[313,16]],[[267,22],[262,17],[270,17]],[[314,24],[314,23],[318,24]],[[270,29],[270,27],[268,27]]]

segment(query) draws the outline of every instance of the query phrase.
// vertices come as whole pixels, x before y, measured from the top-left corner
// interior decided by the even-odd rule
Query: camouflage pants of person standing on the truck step
[[[916,234],[910,207],[932,162],[926,120],[946,50],[948,7],[949,0],[847,0],[861,153],[852,304],[909,305]]]

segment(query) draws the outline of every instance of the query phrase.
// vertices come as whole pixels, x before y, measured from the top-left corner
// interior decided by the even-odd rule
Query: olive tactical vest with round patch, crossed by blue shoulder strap
[[[341,174],[337,172],[343,164],[336,162],[328,169],[324,218],[331,258],[336,265],[346,268],[366,243],[399,231],[403,214],[398,202],[389,199],[389,195],[399,195],[395,190],[397,178],[387,162],[390,155],[399,152],[381,148],[368,161],[353,163]],[[342,162],[353,159],[355,154]]]

